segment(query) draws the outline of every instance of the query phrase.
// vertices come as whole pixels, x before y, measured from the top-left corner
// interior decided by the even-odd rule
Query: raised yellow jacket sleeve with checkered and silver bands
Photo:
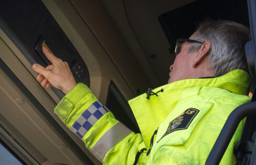
[[[54,112],[103,164],[133,164],[137,151],[146,148],[142,135],[116,120],[84,84],[69,91]],[[147,159],[142,153],[138,164]]]

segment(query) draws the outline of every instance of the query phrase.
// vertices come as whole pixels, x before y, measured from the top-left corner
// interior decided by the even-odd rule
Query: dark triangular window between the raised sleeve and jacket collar
[[[113,81],[109,85],[106,107],[114,114],[117,120],[135,133],[139,133],[139,128],[132,110]]]

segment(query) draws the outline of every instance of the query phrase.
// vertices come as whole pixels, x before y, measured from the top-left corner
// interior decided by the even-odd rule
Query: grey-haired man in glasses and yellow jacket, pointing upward
[[[68,68],[43,48],[52,62],[35,64],[43,87],[66,96],[55,113],[103,164],[204,164],[228,115],[249,102],[250,83],[244,53],[249,29],[231,21],[203,23],[190,39],[178,39],[169,84],[129,101],[142,134],[122,123]],[[235,162],[233,148],[242,122],[220,164]]]

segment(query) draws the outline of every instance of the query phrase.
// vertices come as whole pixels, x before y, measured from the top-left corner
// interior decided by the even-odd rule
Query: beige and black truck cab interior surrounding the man
[[[101,164],[54,114],[64,93],[36,80],[32,64],[50,64],[42,46],[139,133],[127,100],[167,84],[176,40],[189,38],[205,19],[251,29],[246,55],[254,90],[255,16],[250,0],[0,0],[0,164]],[[244,117],[237,164],[256,164],[254,97],[230,114],[206,164],[219,163],[234,134],[228,126]]]

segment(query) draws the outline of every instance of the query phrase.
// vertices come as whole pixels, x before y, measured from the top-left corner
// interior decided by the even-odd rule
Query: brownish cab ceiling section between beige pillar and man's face
[[[158,17],[193,1],[100,0],[144,72],[153,68],[155,73],[151,75],[157,79],[154,87],[167,83],[169,66],[175,57],[169,51],[170,44]]]

